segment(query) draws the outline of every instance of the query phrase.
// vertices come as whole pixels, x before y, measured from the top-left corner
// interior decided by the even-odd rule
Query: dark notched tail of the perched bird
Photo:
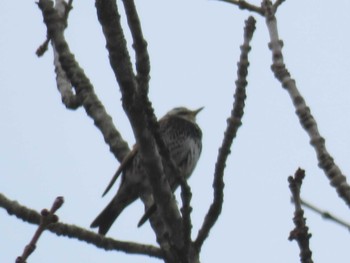
[[[124,208],[135,201],[136,198],[137,196],[121,195],[118,192],[106,208],[91,223],[90,227],[98,227],[98,233],[105,235]]]

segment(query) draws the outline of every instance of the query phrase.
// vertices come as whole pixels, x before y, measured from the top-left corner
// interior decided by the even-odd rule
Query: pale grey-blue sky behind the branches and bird
[[[254,1],[259,3],[260,1]],[[150,97],[158,116],[174,106],[205,106],[198,122],[203,152],[190,179],[194,235],[212,201],[217,149],[232,107],[236,63],[247,11],[219,1],[137,1],[151,56]],[[118,129],[134,143],[120,92],[109,67],[94,1],[75,1],[66,37]],[[344,174],[350,164],[350,2],[286,1],[277,19],[285,63],[311,107],[326,145]],[[268,32],[261,17],[252,41],[243,126],[225,175],[222,215],[203,247],[202,262],[298,262],[293,206],[287,177],[306,169],[302,197],[350,221],[318,168],[314,150],[291,100],[270,70]],[[114,193],[101,198],[118,166],[82,109],[66,110],[56,89],[52,52],[38,59],[46,27],[34,1],[0,3],[0,192],[40,211],[56,196],[65,223],[88,227]],[[111,192],[116,191],[114,188]],[[129,207],[108,233],[155,244],[146,224],[138,229],[140,202]],[[348,262],[349,232],[306,210],[315,262]],[[0,209],[0,261],[14,262],[36,226]],[[159,262],[105,252],[47,232],[28,262]]]

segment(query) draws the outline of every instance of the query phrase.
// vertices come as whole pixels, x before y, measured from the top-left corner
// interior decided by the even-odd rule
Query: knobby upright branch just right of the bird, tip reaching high
[[[246,98],[246,86],[247,86],[247,75],[248,75],[248,52],[250,51],[250,41],[253,37],[255,30],[255,19],[251,16],[246,20],[246,26],[244,28],[244,42],[241,46],[241,56],[238,63],[237,70],[237,81],[236,81],[236,92],[235,101],[233,104],[233,109],[231,111],[231,116],[227,119],[227,128],[225,131],[224,139],[219,150],[218,159],[215,166],[214,174],[214,200],[210,206],[210,209],[205,216],[203,225],[198,232],[198,236],[195,241],[195,246],[198,251],[200,251],[204,240],[208,237],[210,229],[214,226],[216,220],[218,219],[221,208],[223,204],[223,189],[224,189],[224,169],[226,165],[226,160],[230,154],[230,148],[233,139],[236,137],[238,128],[242,124],[244,100]]]

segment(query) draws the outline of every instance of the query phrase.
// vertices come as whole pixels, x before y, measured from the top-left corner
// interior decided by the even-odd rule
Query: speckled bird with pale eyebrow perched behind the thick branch
[[[158,121],[160,136],[180,176],[185,179],[191,176],[202,151],[202,131],[196,123],[196,116],[202,109],[203,107],[196,110],[177,107],[167,112]],[[174,178],[174,175],[167,173],[166,167],[164,169],[170,188],[175,191],[179,181]],[[106,235],[122,211],[138,198],[144,202],[146,200],[153,202],[151,186],[142,167],[138,144],[134,145],[121,162],[103,196],[111,189],[120,174],[122,179],[117,193],[90,225],[91,228],[98,228],[98,233],[101,235]],[[138,226],[147,221],[155,210],[155,204],[148,207]]]

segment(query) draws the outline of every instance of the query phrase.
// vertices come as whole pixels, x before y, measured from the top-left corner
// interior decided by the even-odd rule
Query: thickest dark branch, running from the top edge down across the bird
[[[163,222],[158,220],[156,224],[151,220],[152,227],[156,232],[157,241],[164,249],[166,258],[170,260],[182,247],[182,235],[179,231],[181,217],[169,183],[164,176],[163,164],[154,139],[156,136],[154,128],[157,127],[156,117],[147,97],[147,89],[140,89],[133,73],[116,2],[96,0],[96,9],[106,38],[110,64],[121,89],[123,108],[140,146],[139,151],[149,176],[157,211],[163,220]],[[130,10],[128,12],[132,15],[136,14]],[[132,19],[129,18],[129,20]],[[134,25],[133,30],[135,30]],[[172,240],[169,240],[169,237]]]

